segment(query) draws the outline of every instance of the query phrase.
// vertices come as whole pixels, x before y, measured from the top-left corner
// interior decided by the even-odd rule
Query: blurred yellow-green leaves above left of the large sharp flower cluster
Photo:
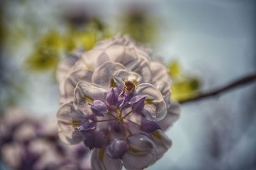
[[[98,21],[99,22],[99,21]],[[26,66],[33,71],[56,69],[61,52],[68,53],[77,48],[90,50],[100,39],[109,36],[108,29],[92,22],[82,29],[70,26],[64,34],[49,31],[38,39],[33,52],[26,60]]]

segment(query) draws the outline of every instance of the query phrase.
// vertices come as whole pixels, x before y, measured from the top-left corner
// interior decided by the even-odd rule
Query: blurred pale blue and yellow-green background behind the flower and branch
[[[254,0],[0,1],[0,169],[21,168],[8,161],[8,147],[25,147],[20,154],[31,156],[28,139],[20,139],[30,134],[26,129],[38,132],[29,139],[58,140],[56,129],[45,132],[46,123],[17,132],[25,121],[17,115],[33,117],[30,122],[55,119],[56,66],[72,50],[129,34],[166,63],[179,101],[255,73],[255,16]],[[148,169],[256,169],[255,129],[256,83],[182,104],[180,120],[167,132],[172,148]],[[66,146],[51,147],[62,148],[51,157],[66,157]]]

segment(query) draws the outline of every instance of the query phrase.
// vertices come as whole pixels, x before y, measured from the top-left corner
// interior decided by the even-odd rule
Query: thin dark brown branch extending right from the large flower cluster
[[[205,99],[207,97],[213,97],[217,96],[218,94],[221,94],[222,92],[227,92],[228,90],[234,89],[236,87],[239,87],[241,85],[245,85],[247,83],[250,83],[252,81],[256,80],[256,73],[250,74],[248,76],[244,76],[243,78],[233,81],[232,83],[229,83],[228,85],[225,85],[224,87],[220,87],[218,89],[210,90],[209,92],[200,92],[197,96],[191,97],[189,99],[180,100],[180,104],[189,103],[192,101],[199,101],[201,99]]]

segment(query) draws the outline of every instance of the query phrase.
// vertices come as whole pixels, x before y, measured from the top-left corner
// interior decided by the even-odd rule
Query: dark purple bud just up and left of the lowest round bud
[[[104,134],[100,131],[94,131],[88,138],[84,140],[84,145],[90,148],[102,148],[106,143]]]

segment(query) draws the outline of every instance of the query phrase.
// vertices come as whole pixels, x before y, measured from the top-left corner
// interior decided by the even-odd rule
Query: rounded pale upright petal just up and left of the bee
[[[108,90],[111,87],[111,79],[113,81],[113,74],[119,69],[125,69],[125,67],[117,62],[104,62],[94,71],[92,82]]]

